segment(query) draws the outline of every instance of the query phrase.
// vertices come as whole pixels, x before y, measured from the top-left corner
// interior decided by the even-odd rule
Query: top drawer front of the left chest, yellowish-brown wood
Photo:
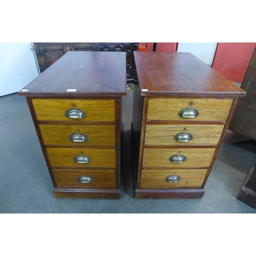
[[[32,102],[37,120],[115,121],[115,100],[32,99]],[[86,117],[66,117],[66,111],[74,108],[82,110]]]

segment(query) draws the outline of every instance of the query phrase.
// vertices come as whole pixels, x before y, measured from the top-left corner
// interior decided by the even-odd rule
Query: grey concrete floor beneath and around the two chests
[[[205,185],[203,199],[133,198],[131,147],[133,90],[123,98],[121,200],[57,199],[25,97],[0,97],[0,213],[255,214],[236,197],[256,165],[256,145],[223,143]]]

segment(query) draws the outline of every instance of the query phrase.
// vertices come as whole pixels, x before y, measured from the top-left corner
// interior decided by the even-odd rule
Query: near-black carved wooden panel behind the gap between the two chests
[[[100,42],[100,51],[111,52],[126,52],[126,77],[127,80],[134,80],[135,68],[134,68],[134,51],[138,51],[138,42]]]

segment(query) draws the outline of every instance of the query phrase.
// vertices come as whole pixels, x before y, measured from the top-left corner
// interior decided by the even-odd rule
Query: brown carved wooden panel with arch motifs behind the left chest
[[[40,73],[68,51],[99,51],[98,42],[34,42]]]

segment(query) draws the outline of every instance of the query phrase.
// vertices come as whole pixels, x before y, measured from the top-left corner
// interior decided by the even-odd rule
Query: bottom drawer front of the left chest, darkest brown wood
[[[72,169],[53,169],[57,187],[81,187],[81,188],[114,188],[116,187],[115,170],[72,170]],[[82,177],[80,177],[82,176]],[[84,177],[84,176],[89,176]],[[90,181],[82,183],[81,181]],[[92,178],[92,179],[91,179]]]

